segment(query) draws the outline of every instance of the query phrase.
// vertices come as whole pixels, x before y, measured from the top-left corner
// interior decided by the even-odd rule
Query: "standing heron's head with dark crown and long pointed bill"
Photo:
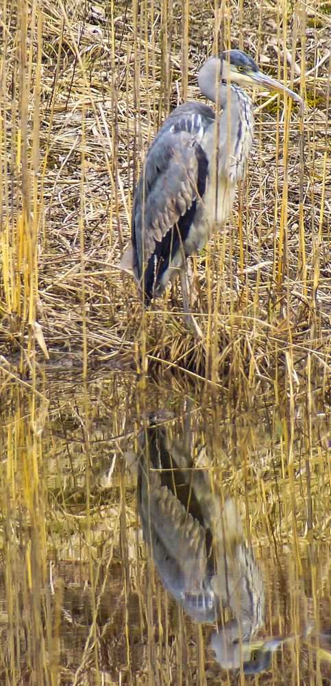
[[[283,84],[264,74],[256,62],[242,50],[225,50],[221,57],[212,57],[201,67],[198,75],[201,93],[215,102],[218,82],[235,82],[239,86],[252,86],[259,89],[286,93],[293,100],[301,97]]]

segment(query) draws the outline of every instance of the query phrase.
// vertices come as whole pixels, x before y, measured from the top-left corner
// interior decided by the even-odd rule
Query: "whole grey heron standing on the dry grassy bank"
[[[206,244],[214,226],[223,226],[252,147],[252,99],[240,86],[301,100],[240,50],[209,58],[198,82],[202,95],[217,103],[218,121],[202,102],[180,105],[164,121],[138,180],[132,244],[121,263],[133,270],[146,305],[180,273],[186,312],[186,257]]]

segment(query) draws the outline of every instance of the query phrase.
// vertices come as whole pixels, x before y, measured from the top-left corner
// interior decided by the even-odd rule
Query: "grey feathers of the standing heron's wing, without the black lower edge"
[[[203,104],[177,107],[149,148],[134,197],[132,244],[134,270],[140,279],[143,265],[160,242],[191,208],[198,193],[195,143],[214,121]]]

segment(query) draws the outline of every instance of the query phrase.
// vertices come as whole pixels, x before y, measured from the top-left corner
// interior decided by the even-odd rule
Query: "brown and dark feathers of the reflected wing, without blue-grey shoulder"
[[[148,427],[140,447],[138,504],[145,540],[155,547],[154,561],[161,576],[172,570],[183,584],[201,582],[212,541],[194,490],[173,462],[162,427]]]

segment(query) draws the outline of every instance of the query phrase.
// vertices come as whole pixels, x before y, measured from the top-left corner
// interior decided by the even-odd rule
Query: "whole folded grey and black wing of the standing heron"
[[[132,213],[134,271],[140,283],[143,277],[147,299],[183,248],[204,195],[208,159],[199,143],[211,121],[214,113],[207,106],[177,108],[147,154]]]

